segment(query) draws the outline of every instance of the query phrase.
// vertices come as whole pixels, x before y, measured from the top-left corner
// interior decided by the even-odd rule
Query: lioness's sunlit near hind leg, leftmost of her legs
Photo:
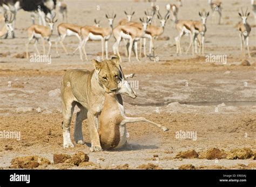
[[[70,102],[63,104],[63,125],[62,125],[62,130],[63,130],[63,147],[68,148],[68,147],[74,147],[73,143],[71,142],[70,139],[70,123],[71,123],[71,118],[72,114],[74,111],[76,103]]]

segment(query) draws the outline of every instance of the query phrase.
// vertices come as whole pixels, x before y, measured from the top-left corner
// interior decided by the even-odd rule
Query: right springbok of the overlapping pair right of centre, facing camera
[[[201,21],[193,21],[193,29],[194,32],[192,33],[192,38],[193,38],[193,44],[194,44],[194,50],[197,53],[197,41],[199,42],[199,54],[202,53],[204,55],[204,41],[205,41],[205,33],[207,31],[206,28],[206,20],[209,16],[209,12],[199,12],[199,16],[201,18]],[[193,30],[191,29],[191,30]],[[200,34],[201,37],[201,42],[199,41],[198,34]],[[190,42],[190,45],[187,48],[186,53],[190,49],[192,43]],[[193,54],[194,52],[192,52]]]

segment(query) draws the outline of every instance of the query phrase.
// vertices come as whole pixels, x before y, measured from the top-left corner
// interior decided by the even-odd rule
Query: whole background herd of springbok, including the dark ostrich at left
[[[0,21],[4,21],[4,26],[0,30],[0,37],[12,37],[15,38],[15,21],[18,10],[23,9],[31,13],[32,25],[28,28],[28,42],[26,42],[26,57],[29,57],[28,47],[30,42],[35,39],[35,49],[39,55],[39,50],[37,48],[38,40],[41,39],[43,43],[43,53],[45,52],[45,41],[49,43],[49,49],[47,55],[50,55],[52,41],[56,44],[56,53],[60,56],[58,52],[58,44],[60,44],[65,53],[68,51],[64,45],[64,39],[68,36],[76,36],[78,38],[78,46],[73,51],[79,51],[80,59],[87,61],[86,54],[86,43],[88,40],[91,41],[101,41],[102,43],[102,59],[104,59],[104,51],[106,59],[108,59],[108,41],[113,35],[115,42],[112,46],[113,53],[118,55],[121,61],[121,56],[119,53],[120,42],[124,41],[126,46],[125,55],[128,57],[129,62],[131,61],[131,51],[136,55],[137,61],[139,57],[142,57],[142,46],[144,56],[153,57],[156,61],[156,55],[154,54],[154,42],[161,34],[164,33],[164,28],[167,19],[171,18],[173,21],[178,35],[175,37],[177,55],[181,55],[180,40],[184,35],[190,35],[190,45],[188,46],[186,53],[192,47],[192,55],[194,53],[204,54],[204,43],[205,43],[205,33],[207,31],[206,20],[210,15],[210,12],[199,12],[200,21],[195,20],[180,20],[178,19],[179,10],[182,9],[183,3],[181,0],[176,0],[174,4],[166,5],[166,12],[163,14],[163,10],[159,11],[159,6],[156,2],[151,3],[151,10],[146,10],[145,17],[139,18],[139,21],[132,21],[132,17],[135,14],[134,11],[127,12],[124,11],[126,19],[122,19],[118,22],[117,26],[114,26],[114,19],[117,15],[112,13],[112,15],[106,14],[106,19],[109,21],[109,27],[100,27],[99,21],[95,19],[95,25],[76,25],[68,23],[68,7],[67,5],[57,0],[0,0],[0,9],[2,14],[0,15]],[[205,0],[206,1],[206,0]],[[208,4],[212,10],[212,16],[215,18],[216,23],[221,23],[222,7],[223,4],[220,1],[208,0]],[[254,18],[256,20],[256,1],[251,0],[252,10],[254,13]],[[58,38],[51,39],[54,25],[57,21],[56,12],[58,11],[60,18],[64,23],[60,23],[57,26]],[[217,21],[218,13],[218,21]],[[251,32],[251,26],[247,22],[247,18],[250,15],[248,8],[246,11],[242,10],[238,12],[241,17],[241,21],[236,25],[239,32],[241,51],[244,52],[245,44],[247,46],[248,56],[250,55],[249,47],[249,36]],[[38,24],[35,24],[35,18],[38,17]],[[155,17],[160,22],[160,26],[153,25],[156,24]],[[149,54],[146,54],[146,39],[149,39]],[[139,54],[138,54],[138,41],[139,41]],[[104,49],[105,48],[105,49]]]

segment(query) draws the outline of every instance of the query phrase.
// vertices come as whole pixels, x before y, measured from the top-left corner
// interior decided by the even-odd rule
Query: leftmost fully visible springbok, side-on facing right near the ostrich
[[[38,48],[37,48],[37,42],[39,40],[39,38],[42,39],[42,42],[43,42],[43,51],[44,51],[44,55],[45,55],[45,40],[48,41],[49,43],[49,49],[48,49],[48,54],[50,54],[50,51],[51,51],[51,41],[50,41],[50,37],[52,35],[52,31],[53,31],[53,26],[54,24],[56,23],[57,19],[54,20],[56,14],[53,16],[52,19],[49,19],[48,17],[45,17],[45,21],[49,24],[49,27],[47,26],[43,26],[43,25],[31,25],[29,28],[28,28],[28,37],[29,37],[29,41],[28,43],[26,44],[26,58],[28,59],[29,58],[29,44],[31,42],[31,40],[33,38],[36,39],[36,42],[35,42],[35,48],[36,48],[36,52],[38,55],[40,55],[40,52],[38,51]]]

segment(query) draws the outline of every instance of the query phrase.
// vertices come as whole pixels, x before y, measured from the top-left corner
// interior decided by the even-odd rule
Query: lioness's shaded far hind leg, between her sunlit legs
[[[84,144],[83,132],[82,132],[82,123],[83,120],[87,119],[87,109],[80,104],[77,104],[80,111],[77,112],[76,123],[75,123],[75,132],[74,140],[78,144]]]

